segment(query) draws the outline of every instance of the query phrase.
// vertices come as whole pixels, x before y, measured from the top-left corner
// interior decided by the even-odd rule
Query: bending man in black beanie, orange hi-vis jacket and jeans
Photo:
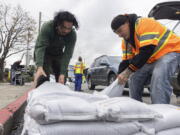
[[[142,101],[144,85],[151,80],[152,103],[169,104],[170,79],[180,62],[180,37],[153,18],[136,14],[116,16],[111,28],[123,38],[119,83],[124,84],[130,78],[130,96]]]

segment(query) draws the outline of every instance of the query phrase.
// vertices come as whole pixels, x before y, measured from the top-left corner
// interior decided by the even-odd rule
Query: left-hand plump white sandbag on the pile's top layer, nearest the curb
[[[99,120],[97,107],[79,97],[62,96],[51,99],[39,99],[28,106],[26,112],[39,124],[59,121]]]

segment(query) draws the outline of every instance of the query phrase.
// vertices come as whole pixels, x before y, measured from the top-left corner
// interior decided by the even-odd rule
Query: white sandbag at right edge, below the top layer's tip
[[[154,104],[149,105],[150,108],[163,116],[161,119],[143,122],[143,124],[150,128],[155,128],[156,132],[167,130],[171,128],[180,127],[180,108],[168,104]]]

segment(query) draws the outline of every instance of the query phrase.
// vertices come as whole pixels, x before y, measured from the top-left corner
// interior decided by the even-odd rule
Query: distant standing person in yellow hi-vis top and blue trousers
[[[75,91],[81,91],[81,84],[82,84],[82,77],[83,71],[85,69],[85,65],[82,62],[82,57],[79,56],[78,61],[74,66],[74,73],[75,73]]]

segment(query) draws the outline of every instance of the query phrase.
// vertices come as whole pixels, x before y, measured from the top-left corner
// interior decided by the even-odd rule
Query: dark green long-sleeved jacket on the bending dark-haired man
[[[34,58],[37,67],[44,67],[45,56],[60,57],[60,74],[66,74],[76,43],[76,32],[73,29],[68,35],[60,36],[54,30],[53,21],[43,24],[36,40]]]

